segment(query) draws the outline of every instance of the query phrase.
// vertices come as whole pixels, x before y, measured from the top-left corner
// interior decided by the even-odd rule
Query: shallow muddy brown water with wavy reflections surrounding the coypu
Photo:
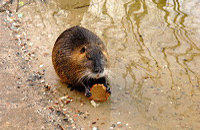
[[[90,29],[106,44],[110,100],[93,108],[79,92],[68,92],[86,102],[80,107],[74,101],[73,107],[92,113],[88,120],[79,119],[81,126],[90,128],[89,122],[98,118],[100,129],[112,124],[121,129],[199,129],[199,8],[199,0],[50,0],[21,12],[42,52],[51,53],[60,33],[74,25]],[[69,91],[59,82],[51,55],[38,57],[58,95]]]

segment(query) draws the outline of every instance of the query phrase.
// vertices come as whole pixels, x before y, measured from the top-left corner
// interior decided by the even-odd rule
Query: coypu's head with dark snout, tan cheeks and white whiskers
[[[106,75],[109,56],[103,44],[82,45],[73,55],[83,77],[98,79]]]

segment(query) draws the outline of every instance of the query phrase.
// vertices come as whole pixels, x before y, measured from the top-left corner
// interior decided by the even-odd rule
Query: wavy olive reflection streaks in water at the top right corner
[[[167,27],[173,31],[174,37],[177,41],[176,45],[165,47],[162,51],[164,54],[164,59],[167,62],[167,66],[170,71],[170,75],[171,75],[171,79],[172,79],[171,89],[177,89],[177,88],[175,87],[175,84],[174,84],[173,73],[172,73],[172,70],[170,69],[171,65],[170,65],[170,62],[168,61],[168,56],[167,56],[168,54],[166,53],[166,50],[175,50],[174,52],[171,53],[171,55],[173,55],[175,57],[176,63],[178,63],[178,65],[181,68],[183,68],[183,70],[185,70],[186,76],[187,76],[190,84],[192,86],[195,86],[195,84],[193,84],[192,79],[191,79],[191,73],[192,73],[195,76],[196,82],[199,86],[199,81],[200,81],[199,77],[197,76],[197,74],[194,71],[192,71],[192,69],[190,69],[190,67],[187,64],[187,63],[193,61],[194,57],[199,56],[198,53],[192,52],[194,50],[199,51],[199,48],[189,38],[189,36],[187,35],[187,30],[185,29],[184,22],[185,22],[185,19],[188,17],[188,15],[180,10],[181,7],[180,7],[180,3],[178,0],[173,0],[173,11],[174,12],[169,12],[169,11],[167,11],[167,9],[164,9],[167,6],[167,3],[165,0],[160,0],[158,2],[153,0],[153,2],[155,4],[157,4],[157,7],[160,10],[165,12],[164,19],[165,19],[165,22],[167,23]],[[176,13],[176,16],[173,19],[173,24],[175,25],[174,27],[171,26],[170,23],[168,22],[170,13]],[[182,42],[186,42],[187,44],[189,44],[189,48],[187,48],[184,53],[176,51],[176,48],[184,46],[184,44]],[[189,58],[187,58],[188,55],[189,55]],[[181,57],[185,57],[185,59],[182,60]],[[191,88],[191,93],[193,91],[194,91],[194,88]],[[173,92],[173,91],[172,91],[172,93],[174,93],[173,96],[169,97],[169,98],[171,98],[171,100],[173,100],[173,102],[176,104],[175,98],[177,98],[177,94],[176,94],[176,92]]]

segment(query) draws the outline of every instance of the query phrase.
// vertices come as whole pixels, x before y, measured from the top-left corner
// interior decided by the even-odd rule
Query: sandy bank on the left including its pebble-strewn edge
[[[21,36],[21,23],[10,7],[4,9],[0,13],[0,129],[60,129],[50,118],[53,108],[43,107],[49,104],[44,98],[48,86],[38,82],[44,73],[32,72],[25,56],[31,55],[26,50],[29,39]]]

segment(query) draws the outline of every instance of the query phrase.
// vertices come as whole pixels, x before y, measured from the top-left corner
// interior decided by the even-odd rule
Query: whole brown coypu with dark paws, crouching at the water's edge
[[[84,90],[91,96],[94,84],[104,84],[111,93],[104,68],[108,66],[106,47],[93,32],[75,26],[65,30],[56,40],[52,51],[54,69],[61,81],[73,89]]]

